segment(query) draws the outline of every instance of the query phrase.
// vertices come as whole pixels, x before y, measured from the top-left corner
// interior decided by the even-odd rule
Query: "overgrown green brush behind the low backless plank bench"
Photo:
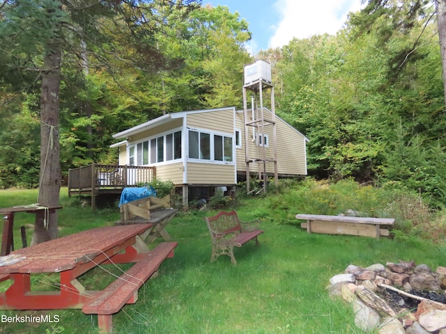
[[[357,216],[394,218],[392,235],[396,238],[445,239],[446,216],[433,212],[417,193],[364,186],[350,179],[335,183],[310,178],[279,180],[277,191],[268,189],[254,208],[258,217],[268,220],[275,216],[275,223],[293,225],[300,223],[295,214],[339,215],[348,211]]]

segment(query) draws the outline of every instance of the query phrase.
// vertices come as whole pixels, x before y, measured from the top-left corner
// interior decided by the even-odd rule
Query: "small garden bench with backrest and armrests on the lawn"
[[[257,227],[259,221],[252,221],[250,223],[243,223],[238,219],[237,212],[219,212],[212,217],[204,217],[210,232],[212,240],[212,255],[210,262],[217,260],[220,255],[229,255],[231,262],[237,264],[234,257],[233,248],[241,247],[249,240],[254,240],[256,245],[259,245],[259,234],[263,230]]]

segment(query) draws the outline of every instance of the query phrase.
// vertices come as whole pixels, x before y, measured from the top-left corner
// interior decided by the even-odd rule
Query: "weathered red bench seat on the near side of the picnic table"
[[[120,278],[95,295],[86,303],[82,311],[85,314],[98,315],[98,326],[102,333],[112,333],[112,315],[126,303],[136,303],[138,289],[143,285],[167,257],[174,256],[174,248],[177,242],[162,242],[158,244],[148,255],[144,256]]]

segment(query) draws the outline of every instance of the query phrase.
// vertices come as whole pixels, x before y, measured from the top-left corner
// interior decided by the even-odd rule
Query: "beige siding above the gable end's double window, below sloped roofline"
[[[190,113],[186,117],[187,127],[233,134],[233,109]]]

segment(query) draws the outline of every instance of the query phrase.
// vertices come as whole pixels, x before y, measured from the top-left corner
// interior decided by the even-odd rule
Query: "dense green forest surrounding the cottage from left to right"
[[[36,35],[24,31],[48,33],[36,13],[77,3],[71,19],[90,20],[100,35],[80,39],[81,25],[72,22],[64,31],[75,47],[61,53],[63,176],[93,162],[116,164],[112,134],[164,113],[242,109],[243,67],[262,59],[272,64],[277,115],[310,140],[310,176],[406,189],[443,208],[446,114],[435,1],[369,1],[374,6],[351,13],[336,35],[256,55],[245,48],[249,25],[226,7],[137,2],[0,1],[0,188],[39,182],[45,59]],[[5,34],[13,19],[21,29]],[[149,33],[138,30],[144,25]]]

